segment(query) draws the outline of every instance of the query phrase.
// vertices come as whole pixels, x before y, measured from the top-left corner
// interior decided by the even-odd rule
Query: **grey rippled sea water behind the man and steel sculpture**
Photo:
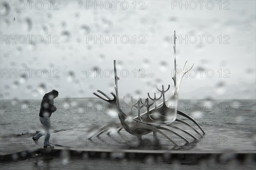
[[[143,100],[145,101],[145,100]],[[136,102],[136,99],[134,99]],[[35,133],[41,129],[39,110],[41,100],[2,100],[0,107],[0,136]],[[101,99],[54,99],[57,111],[52,113],[53,130],[90,128],[119,122],[116,108]],[[124,112],[129,106],[120,99]],[[255,99],[179,99],[173,107],[187,113],[199,125],[212,129],[235,129],[256,132]],[[134,110],[134,116],[137,116]],[[145,107],[142,108],[143,112]]]

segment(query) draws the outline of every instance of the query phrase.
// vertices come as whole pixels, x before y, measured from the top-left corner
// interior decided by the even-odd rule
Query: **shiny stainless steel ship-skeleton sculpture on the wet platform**
[[[176,71],[177,65],[176,65],[176,43],[175,43],[175,40],[174,40],[174,54],[175,54],[175,71]],[[185,63],[185,65],[186,65],[186,63]],[[141,139],[142,135],[145,135],[145,134],[148,134],[151,132],[153,132],[154,138],[156,138],[157,137],[156,135],[158,132],[158,133],[162,134],[164,137],[166,137],[166,139],[169,139],[175,146],[178,146],[178,144],[175,141],[173,141],[169,136],[166,135],[166,133],[163,132],[163,130],[166,130],[168,132],[175,134],[176,136],[179,136],[186,143],[189,143],[189,141],[185,137],[181,136],[179,133],[170,129],[170,127],[175,128],[175,129],[180,130],[180,131],[186,133],[187,135],[191,136],[193,139],[198,140],[194,135],[192,135],[188,131],[183,130],[182,128],[177,127],[175,125],[172,125],[173,122],[180,122],[180,123],[183,123],[183,124],[189,126],[190,128],[192,128],[192,130],[194,130],[196,133],[198,133],[198,135],[203,137],[203,135],[200,132],[198,132],[198,130],[196,130],[194,127],[192,127],[192,125],[190,125],[189,123],[187,123],[181,119],[177,119],[177,114],[179,114],[179,115],[184,116],[187,119],[191,120],[192,122],[194,122],[200,128],[200,130],[203,132],[203,134],[205,134],[204,130],[200,127],[200,125],[198,125],[198,123],[194,119],[192,119],[186,113],[178,111],[177,107],[175,107],[175,108],[170,107],[170,105],[172,103],[178,102],[178,94],[179,94],[179,90],[180,90],[181,80],[182,80],[183,76],[189,70],[191,70],[191,68],[193,67],[193,65],[192,65],[191,68],[185,69],[185,65],[183,67],[183,70],[179,72],[178,77],[176,76],[177,73],[172,77],[172,79],[174,81],[174,86],[175,86],[175,90],[173,91],[173,94],[171,94],[169,97],[166,98],[165,93],[166,93],[166,91],[169,90],[170,85],[168,85],[168,88],[166,90],[164,90],[164,86],[162,85],[162,89],[157,88],[157,90],[161,92],[161,95],[158,98],[156,96],[156,93],[154,93],[154,97],[151,97],[150,94],[148,93],[148,98],[145,99],[144,102],[140,98],[140,99],[138,99],[138,101],[136,103],[134,103],[132,101],[132,97],[131,97],[131,103],[128,103],[130,106],[130,110],[129,110],[128,114],[124,113],[119,107],[119,96],[118,96],[118,85],[117,85],[119,77],[117,77],[117,74],[116,74],[116,60],[114,60],[115,92],[116,92],[116,94],[111,92],[113,99],[111,99],[109,96],[107,96],[105,93],[103,93],[102,91],[99,91],[99,90],[97,90],[97,91],[99,93],[101,93],[103,96],[105,96],[107,99],[103,98],[99,94],[96,94],[96,93],[93,93],[93,94],[98,96],[99,98],[105,100],[106,102],[109,102],[112,105],[116,106],[118,117],[120,120],[120,123],[117,123],[115,125],[116,128],[119,128],[117,132],[119,132],[120,130],[122,130],[122,128],[124,128],[128,133],[130,133],[134,136],[137,136],[138,139]],[[159,105],[157,105],[157,101],[159,99],[161,99],[162,97],[163,97],[163,102],[161,102]],[[153,101],[151,104],[149,104],[150,103],[149,99],[151,99]],[[151,108],[151,106],[153,108]],[[130,116],[132,113],[133,107],[137,108],[137,110],[138,110],[138,116],[134,117],[134,118]],[[141,114],[140,110],[143,107],[145,107],[147,109],[147,111],[145,113]],[[157,114],[157,116],[154,116],[155,114]],[[94,133],[92,136],[90,136],[89,139],[92,138],[93,136],[98,137],[102,133],[109,131],[111,127],[113,127],[113,125],[107,125],[105,127],[100,128],[96,133]],[[109,133],[111,133],[111,131],[109,131],[107,134],[109,134]]]

